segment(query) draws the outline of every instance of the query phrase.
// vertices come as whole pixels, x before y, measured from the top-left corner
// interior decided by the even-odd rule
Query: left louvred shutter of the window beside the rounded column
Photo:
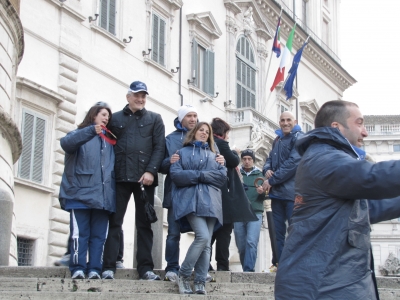
[[[30,179],[31,161],[32,161],[32,144],[33,144],[33,123],[35,117],[25,113],[22,127],[22,153],[19,160],[19,176],[23,179]]]

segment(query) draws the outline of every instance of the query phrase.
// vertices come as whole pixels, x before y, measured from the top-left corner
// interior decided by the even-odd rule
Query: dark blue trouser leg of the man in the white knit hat
[[[181,231],[179,223],[175,221],[172,206],[168,208],[168,235],[165,242],[165,260],[167,267],[165,272],[172,271],[176,274],[179,272],[179,241],[181,239]]]

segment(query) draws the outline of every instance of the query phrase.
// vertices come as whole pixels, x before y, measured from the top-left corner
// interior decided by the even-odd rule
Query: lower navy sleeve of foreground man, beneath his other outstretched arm
[[[400,197],[384,200],[368,200],[371,224],[400,218]]]

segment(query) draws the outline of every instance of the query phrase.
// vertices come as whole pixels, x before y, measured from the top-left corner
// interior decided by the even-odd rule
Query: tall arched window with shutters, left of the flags
[[[256,108],[256,69],[253,49],[242,36],[236,45],[236,107]]]

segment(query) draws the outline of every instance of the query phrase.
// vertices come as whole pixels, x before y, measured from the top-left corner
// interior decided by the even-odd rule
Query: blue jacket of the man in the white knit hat
[[[185,141],[186,133],[188,132],[186,128],[182,127],[178,118],[175,118],[174,126],[176,130],[168,134],[165,138],[165,156],[160,167],[160,173],[167,174],[164,181],[164,208],[170,208],[172,206],[172,182],[171,176],[169,175],[169,168],[171,167],[170,158],[172,154],[175,154],[176,151],[183,147],[183,142]]]

